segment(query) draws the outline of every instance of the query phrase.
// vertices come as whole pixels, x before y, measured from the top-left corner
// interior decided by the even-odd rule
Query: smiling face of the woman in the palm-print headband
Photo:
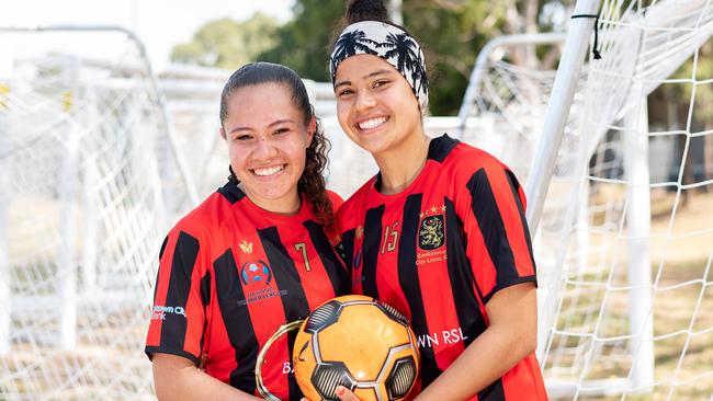
[[[421,138],[421,112],[411,87],[377,56],[344,59],[335,77],[337,116],[351,140],[375,157],[398,153]]]

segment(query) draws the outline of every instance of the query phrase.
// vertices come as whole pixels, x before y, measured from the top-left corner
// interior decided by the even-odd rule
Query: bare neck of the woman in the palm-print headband
[[[382,174],[381,193],[397,194],[416,181],[426,165],[430,140],[431,138],[420,130],[412,140],[405,141],[398,148],[374,154]]]

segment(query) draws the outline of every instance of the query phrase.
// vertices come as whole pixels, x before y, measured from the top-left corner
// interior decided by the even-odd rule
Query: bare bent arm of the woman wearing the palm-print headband
[[[485,309],[490,325],[416,400],[465,400],[535,350],[537,307],[533,283],[499,290]]]

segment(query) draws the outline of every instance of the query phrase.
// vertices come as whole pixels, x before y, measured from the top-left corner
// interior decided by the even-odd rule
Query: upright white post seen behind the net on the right
[[[631,385],[646,390],[654,385],[654,320],[652,264],[649,260],[650,192],[648,169],[648,113],[646,98],[641,107],[624,117],[624,173],[629,239],[629,322],[632,341]]]

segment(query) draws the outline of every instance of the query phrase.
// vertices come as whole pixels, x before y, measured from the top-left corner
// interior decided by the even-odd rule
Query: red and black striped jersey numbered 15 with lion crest
[[[535,282],[524,193],[505,164],[448,135],[405,191],[381,194],[380,180],[338,214],[352,289],[409,317],[428,386],[486,330],[495,293]],[[474,399],[545,400],[534,353]]]

